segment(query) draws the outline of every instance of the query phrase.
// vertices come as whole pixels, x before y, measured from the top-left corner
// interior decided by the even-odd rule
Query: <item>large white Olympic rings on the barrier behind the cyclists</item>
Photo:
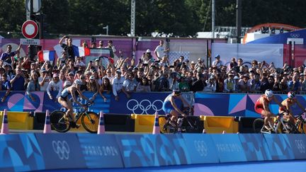
[[[130,103],[132,103],[132,102],[135,102],[134,106],[130,105]],[[137,100],[131,99],[130,101],[128,101],[128,103],[126,105],[127,105],[128,110],[132,110],[132,113],[135,113],[135,110],[140,108],[140,110],[142,110],[142,113],[140,113],[140,114],[144,114],[144,113],[148,114],[147,110],[150,110],[151,108],[154,111],[162,110],[162,105],[159,106],[160,108],[158,108],[157,103],[161,103],[163,105],[164,102],[161,101],[161,100],[156,100],[156,101],[153,101],[153,103],[151,103],[151,101],[145,99],[145,100],[140,101],[140,103],[138,103]],[[147,106],[146,106],[146,104],[147,104]]]

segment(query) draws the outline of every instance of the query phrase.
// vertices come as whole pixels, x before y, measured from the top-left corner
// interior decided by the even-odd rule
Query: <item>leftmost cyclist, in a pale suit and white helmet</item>
[[[73,109],[72,109],[72,102],[69,100],[68,96],[71,95],[72,99],[75,103],[81,105],[81,107],[86,108],[86,105],[81,104],[78,100],[77,100],[77,96],[79,95],[81,98],[83,98],[84,100],[87,100],[89,102],[92,103],[91,100],[89,100],[89,98],[86,98],[83,93],[81,92],[80,88],[81,88],[81,84],[82,81],[80,79],[76,79],[74,81],[74,84],[72,84],[72,86],[69,86],[67,88],[64,88],[64,90],[62,91],[60,97],[58,98],[58,102],[67,109],[66,115],[64,115],[64,120],[66,121],[70,121],[72,122],[72,127],[79,127],[79,125],[76,124],[76,119],[74,117],[73,114]],[[69,117],[71,118],[71,120],[69,120]]]

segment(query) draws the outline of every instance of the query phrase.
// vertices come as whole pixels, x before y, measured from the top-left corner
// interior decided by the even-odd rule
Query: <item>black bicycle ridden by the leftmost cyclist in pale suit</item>
[[[86,108],[76,107],[74,109],[81,109],[76,115],[76,122],[81,118],[81,125],[87,132],[98,132],[98,124],[100,117],[94,112],[89,112],[88,108],[92,103],[86,103]],[[50,114],[51,127],[57,132],[68,132],[70,128],[75,127],[75,124],[64,119],[66,113],[61,110],[55,110]]]

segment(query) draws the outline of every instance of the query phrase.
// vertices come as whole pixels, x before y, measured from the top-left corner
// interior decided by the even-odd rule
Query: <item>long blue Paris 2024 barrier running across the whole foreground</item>
[[[305,134],[8,134],[1,171],[306,159]]]

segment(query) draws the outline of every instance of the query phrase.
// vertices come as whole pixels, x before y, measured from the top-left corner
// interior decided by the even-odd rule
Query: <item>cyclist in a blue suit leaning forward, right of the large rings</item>
[[[165,98],[162,109],[166,114],[171,115],[171,125],[176,125],[179,114],[186,117],[186,114],[181,110],[181,106],[184,104],[192,109],[192,106],[189,105],[183,96],[181,96],[181,91],[179,89],[174,90],[173,93]]]

